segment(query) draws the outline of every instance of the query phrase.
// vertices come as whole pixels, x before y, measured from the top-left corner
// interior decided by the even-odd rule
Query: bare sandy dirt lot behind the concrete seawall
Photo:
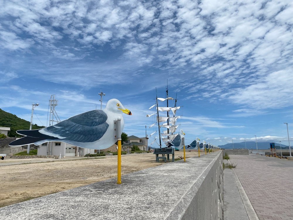
[[[183,152],[176,151],[175,158],[179,156],[183,158]],[[185,157],[198,157],[198,153],[186,151]],[[0,160],[0,207],[117,177],[117,156],[77,160],[50,159],[44,163],[2,166],[7,162],[35,160],[45,161]],[[122,155],[121,175],[162,164],[162,160],[156,163],[153,153]]]

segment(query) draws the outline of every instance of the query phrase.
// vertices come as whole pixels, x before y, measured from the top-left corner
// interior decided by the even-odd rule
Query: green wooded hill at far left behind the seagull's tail
[[[21,135],[16,133],[17,130],[29,130],[30,122],[0,109],[0,126],[9,127],[8,137],[14,138],[15,136],[21,137]],[[45,126],[32,125],[32,130],[40,128],[45,128]]]

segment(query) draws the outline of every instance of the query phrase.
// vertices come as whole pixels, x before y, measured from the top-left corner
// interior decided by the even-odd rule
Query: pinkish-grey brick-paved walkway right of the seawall
[[[229,155],[260,220],[293,219],[293,161],[262,155]]]

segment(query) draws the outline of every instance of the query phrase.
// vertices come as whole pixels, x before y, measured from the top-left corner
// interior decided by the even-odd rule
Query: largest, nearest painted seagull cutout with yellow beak
[[[49,141],[60,141],[81,148],[106,149],[117,141],[114,138],[114,120],[118,117],[121,117],[121,132],[123,131],[122,113],[132,115],[120,101],[110,99],[103,110],[87,111],[38,130],[16,131],[25,137],[12,141],[9,146],[40,145]]]

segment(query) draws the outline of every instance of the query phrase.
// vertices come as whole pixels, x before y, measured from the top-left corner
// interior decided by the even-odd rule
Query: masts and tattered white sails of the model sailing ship
[[[169,106],[169,100],[175,100],[174,106]],[[159,101],[164,103],[166,101],[166,105],[163,107],[159,106]],[[149,128],[158,128],[158,145],[160,146],[160,148],[167,147],[181,149],[183,146],[182,137],[185,134],[182,129],[179,133],[176,133],[177,128],[180,126],[180,124],[176,124],[176,121],[180,119],[180,116],[176,116],[176,111],[180,109],[180,107],[182,107],[177,106],[177,94],[175,99],[173,99],[172,97],[168,97],[167,88],[166,98],[158,98],[156,95],[156,104],[151,106],[149,109],[153,109],[154,107],[156,109],[155,113],[149,114],[147,115],[147,117],[155,116],[155,122],[153,121],[154,123],[151,124]],[[156,141],[157,130],[150,134],[150,136],[152,135],[154,135],[154,141],[151,143],[151,145]]]

